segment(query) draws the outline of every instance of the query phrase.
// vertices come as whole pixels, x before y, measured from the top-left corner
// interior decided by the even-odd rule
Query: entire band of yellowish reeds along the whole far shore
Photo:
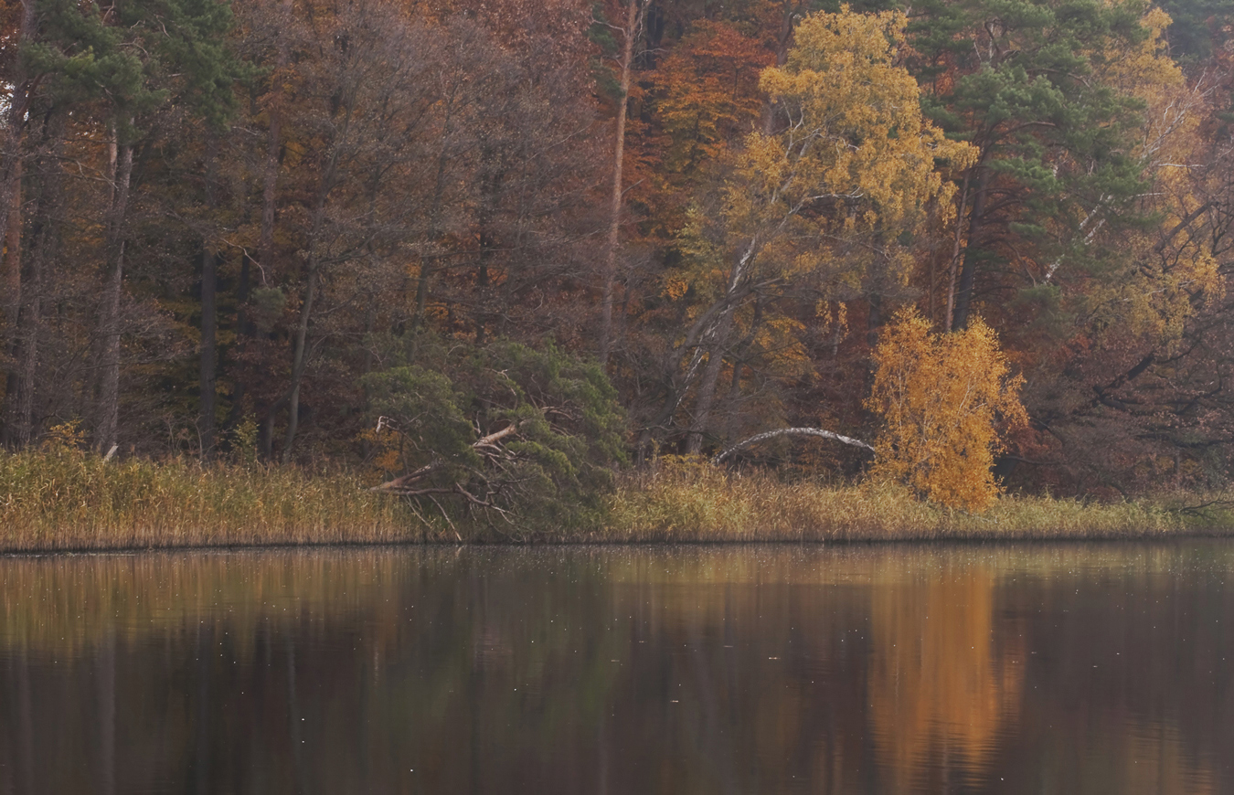
[[[193,459],[0,454],[0,552],[459,542],[1056,541],[1234,536],[1234,495],[1004,495],[975,515],[888,484],[782,481],[705,463],[623,474],[592,527],[453,522],[358,475]],[[427,522],[426,522],[427,520]]]

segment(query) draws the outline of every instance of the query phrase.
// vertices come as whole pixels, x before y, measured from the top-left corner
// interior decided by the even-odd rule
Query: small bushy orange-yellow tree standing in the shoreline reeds
[[[908,484],[932,502],[980,511],[998,495],[991,467],[1002,448],[996,423],[1025,422],[1023,379],[1012,377],[995,332],[980,318],[964,331],[930,333],[901,310],[874,352],[866,406],[884,418],[875,477]]]

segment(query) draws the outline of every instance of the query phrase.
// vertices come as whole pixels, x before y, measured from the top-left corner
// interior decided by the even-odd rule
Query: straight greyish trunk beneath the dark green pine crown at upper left
[[[118,136],[114,127],[112,135]],[[125,216],[128,211],[128,188],[133,172],[132,144],[116,144],[116,167],[112,180],[111,219],[107,227],[110,254],[102,284],[99,311],[99,420],[95,427],[95,449],[106,453],[116,444],[120,425],[120,302],[125,280]]]

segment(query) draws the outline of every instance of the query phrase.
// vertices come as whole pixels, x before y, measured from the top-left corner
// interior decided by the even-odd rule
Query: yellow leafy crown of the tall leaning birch
[[[914,257],[905,241],[954,216],[955,185],[944,170],[966,168],[976,149],[949,141],[922,115],[921,90],[901,65],[905,25],[903,14],[848,6],[812,14],[797,26],[786,63],[763,70],[759,88],[776,121],[738,149],[717,149],[722,184],[686,212],[682,265],[661,280],[664,295],[694,302],[690,322],[718,302],[743,305],[754,285],[764,296],[801,286],[832,301],[860,290],[875,268],[907,281]],[[780,311],[765,301],[758,323]],[[748,322],[734,315],[727,310],[716,326],[727,332]],[[786,352],[780,369],[803,372],[796,364],[805,352],[789,343],[789,331],[782,323],[776,335],[776,349]]]

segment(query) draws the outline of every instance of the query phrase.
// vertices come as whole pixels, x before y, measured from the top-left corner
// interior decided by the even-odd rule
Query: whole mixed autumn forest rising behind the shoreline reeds
[[[0,0],[0,26],[10,449],[495,510],[782,428],[843,439],[726,460],[956,505],[1234,478],[1219,0]]]

